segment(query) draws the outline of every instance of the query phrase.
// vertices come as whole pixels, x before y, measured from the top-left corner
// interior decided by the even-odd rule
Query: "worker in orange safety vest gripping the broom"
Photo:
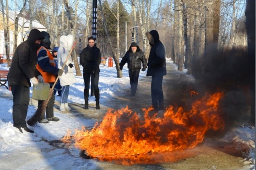
[[[44,35],[44,39],[41,41],[41,47],[37,51],[38,56],[38,63],[36,65],[36,69],[42,74],[44,78],[44,82],[49,83],[50,88],[52,88],[55,80],[56,75],[61,76],[64,72],[64,70],[56,68],[54,58],[52,56],[52,53],[49,51],[51,46],[50,41],[50,35],[46,31],[41,31],[41,33]],[[50,91],[51,93],[51,91]],[[38,119],[39,123],[48,123],[49,121],[59,121],[58,117],[54,116],[53,113],[53,106],[55,101],[55,95],[54,93],[49,94],[51,95],[51,98],[49,99],[48,103],[44,103],[44,100],[38,100],[38,109],[42,109],[40,118]],[[44,115],[44,107],[41,107],[40,105],[46,105],[45,113],[46,118]]]

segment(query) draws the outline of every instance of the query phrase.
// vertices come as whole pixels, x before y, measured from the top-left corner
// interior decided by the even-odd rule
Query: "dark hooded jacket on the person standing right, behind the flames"
[[[148,56],[147,76],[165,76],[166,54],[163,43],[159,40],[159,34],[156,30],[152,30],[146,34],[151,35],[152,38],[149,43],[151,45],[151,50]]]

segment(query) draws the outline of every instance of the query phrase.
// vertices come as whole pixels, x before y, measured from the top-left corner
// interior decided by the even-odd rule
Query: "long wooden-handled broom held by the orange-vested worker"
[[[76,41],[73,43],[73,46],[72,46],[72,48],[71,48],[71,50],[70,50],[70,52],[69,52],[69,54],[68,54],[68,56],[67,56],[67,59],[66,59],[66,61],[64,62],[64,65],[63,65],[62,68],[61,68],[62,70],[64,69],[65,65],[67,64],[68,58],[70,57],[70,55],[71,55],[71,53],[72,53],[72,51],[73,51],[75,45],[76,45]],[[48,99],[47,99],[47,100],[44,100],[44,101],[38,106],[38,109],[36,110],[35,114],[27,121],[27,124],[28,124],[28,125],[30,125],[30,126],[35,126],[36,122],[38,122],[39,118],[40,118],[41,115],[44,113],[44,111],[45,111],[45,109],[46,109],[46,107],[47,107],[47,104],[48,104],[49,100],[50,100],[51,97],[52,97],[53,88],[54,88],[54,86],[56,85],[56,83],[57,83],[59,77],[60,77],[60,76],[58,75],[58,77],[56,78],[54,84],[52,85],[52,88],[51,88],[50,91],[49,91],[49,97],[48,97]]]

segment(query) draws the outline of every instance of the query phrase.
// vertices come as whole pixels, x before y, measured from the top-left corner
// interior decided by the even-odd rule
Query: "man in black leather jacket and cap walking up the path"
[[[131,46],[125,53],[125,56],[122,57],[122,60],[119,64],[120,70],[122,70],[126,62],[129,69],[131,96],[135,96],[138,86],[141,63],[143,65],[142,71],[145,71],[147,68],[147,59],[145,58],[143,51],[140,50],[140,47],[136,44],[136,42],[131,43]]]

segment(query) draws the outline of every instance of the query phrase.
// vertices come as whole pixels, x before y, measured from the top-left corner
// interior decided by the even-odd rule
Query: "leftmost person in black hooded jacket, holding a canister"
[[[26,116],[29,105],[30,81],[37,85],[38,79],[42,79],[35,65],[37,63],[36,52],[43,39],[44,35],[38,29],[32,29],[28,39],[15,49],[12,65],[9,69],[8,85],[11,87],[13,95],[13,126],[17,127],[21,133],[23,133],[21,128],[29,133],[34,133],[26,125]]]

